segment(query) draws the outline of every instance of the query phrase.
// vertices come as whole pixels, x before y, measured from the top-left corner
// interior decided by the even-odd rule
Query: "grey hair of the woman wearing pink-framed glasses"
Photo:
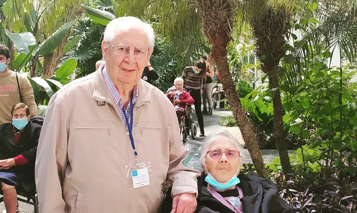
[[[230,141],[233,142],[235,149],[239,150],[241,163],[243,164],[244,155],[243,155],[242,146],[241,146],[240,142],[231,133],[229,133],[226,129],[221,129],[216,133],[209,134],[206,137],[206,139],[203,141],[202,146],[201,146],[201,158],[200,158],[201,163],[203,165],[206,165],[205,164],[206,153],[210,149],[212,142],[215,141],[218,137],[228,137],[228,139],[230,139]]]

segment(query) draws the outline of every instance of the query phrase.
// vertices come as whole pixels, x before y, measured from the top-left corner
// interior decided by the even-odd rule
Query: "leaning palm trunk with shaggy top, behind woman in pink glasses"
[[[257,173],[268,177],[253,129],[243,109],[227,61],[227,45],[231,40],[234,5],[231,0],[196,0],[203,20],[203,32],[212,45],[211,56],[217,65],[231,110],[246,142]]]

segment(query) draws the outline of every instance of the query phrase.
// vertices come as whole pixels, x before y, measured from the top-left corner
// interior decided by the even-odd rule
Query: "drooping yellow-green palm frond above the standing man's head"
[[[183,56],[182,63],[191,62],[195,52],[206,52],[209,45],[201,31],[201,18],[190,1],[115,1],[118,4],[116,17],[135,16],[149,22],[157,35],[175,43],[174,51]]]

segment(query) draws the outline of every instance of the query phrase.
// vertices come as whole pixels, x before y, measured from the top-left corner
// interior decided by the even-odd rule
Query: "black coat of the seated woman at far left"
[[[16,144],[15,136],[12,132],[13,128],[14,126],[11,123],[0,125],[0,160],[24,155],[29,162],[25,165],[0,170],[0,172],[16,173],[20,177],[21,185],[26,192],[34,194],[36,191],[35,160],[41,126],[29,121]]]

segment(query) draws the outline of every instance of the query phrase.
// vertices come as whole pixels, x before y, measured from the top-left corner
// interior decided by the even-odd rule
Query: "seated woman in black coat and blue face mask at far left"
[[[30,121],[30,110],[24,103],[12,106],[11,116],[12,123],[0,125],[0,191],[4,212],[18,213],[16,190],[36,192],[35,159],[41,125]]]

